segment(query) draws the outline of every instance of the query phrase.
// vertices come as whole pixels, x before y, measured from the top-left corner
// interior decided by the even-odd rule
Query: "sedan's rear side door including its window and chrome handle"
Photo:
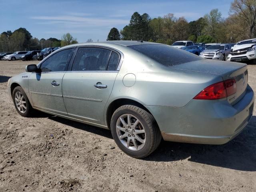
[[[118,71],[120,53],[104,47],[81,47],[62,81],[63,99],[72,118],[104,125],[104,107]]]

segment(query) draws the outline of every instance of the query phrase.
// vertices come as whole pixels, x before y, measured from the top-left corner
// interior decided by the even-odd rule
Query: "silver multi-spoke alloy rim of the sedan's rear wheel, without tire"
[[[131,114],[123,114],[118,118],[116,133],[120,142],[130,150],[141,150],[146,143],[146,132],[142,123]]]

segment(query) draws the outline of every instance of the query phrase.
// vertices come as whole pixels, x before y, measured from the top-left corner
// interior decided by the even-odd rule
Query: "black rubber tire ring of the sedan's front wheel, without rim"
[[[20,92],[23,96],[24,96],[24,100],[26,101],[26,110],[24,113],[20,112],[20,110],[18,109],[17,107],[17,104],[15,102],[15,94],[17,92]],[[23,117],[30,117],[32,115],[32,112],[33,112],[33,108],[28,100],[28,97],[26,96],[26,93],[24,92],[24,90],[20,87],[20,86],[17,86],[14,88],[13,92],[12,92],[12,100],[13,100],[13,103],[14,103],[14,106],[17,110],[17,112],[23,116]]]

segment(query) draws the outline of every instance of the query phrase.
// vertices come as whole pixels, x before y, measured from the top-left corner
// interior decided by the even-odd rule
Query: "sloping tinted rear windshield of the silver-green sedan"
[[[164,44],[145,44],[128,46],[165,66],[174,66],[203,58]]]

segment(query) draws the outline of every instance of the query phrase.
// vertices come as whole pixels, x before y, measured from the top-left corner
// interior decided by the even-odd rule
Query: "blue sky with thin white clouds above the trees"
[[[233,0],[0,0],[0,32],[26,28],[33,37],[58,38],[70,32],[78,42],[104,41],[112,27],[122,29],[137,11],[151,18],[174,13],[188,22],[218,8],[228,16]]]

